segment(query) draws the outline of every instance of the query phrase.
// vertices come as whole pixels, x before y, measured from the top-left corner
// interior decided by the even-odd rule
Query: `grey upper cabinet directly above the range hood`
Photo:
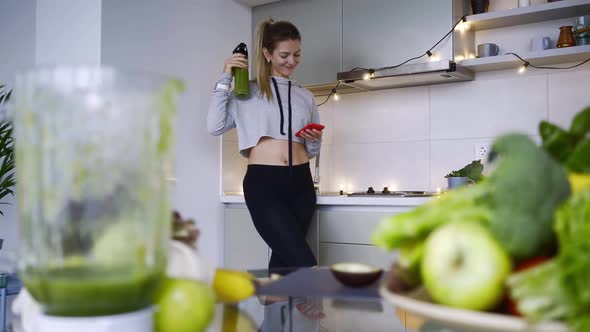
[[[452,0],[343,0],[342,22],[344,71],[393,66],[424,54],[455,23]],[[434,51],[440,60],[452,60],[452,34]]]

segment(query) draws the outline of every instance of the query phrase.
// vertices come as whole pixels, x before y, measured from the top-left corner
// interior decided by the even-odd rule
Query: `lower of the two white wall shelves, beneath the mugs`
[[[554,48],[539,52],[522,53],[518,55],[536,66],[549,66],[559,63],[577,61],[581,62],[590,58],[590,45]],[[522,66],[522,61],[512,54],[476,59],[465,59],[458,63],[474,72],[503,70]]]

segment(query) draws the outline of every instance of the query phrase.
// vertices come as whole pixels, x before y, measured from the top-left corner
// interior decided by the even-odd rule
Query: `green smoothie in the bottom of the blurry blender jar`
[[[164,268],[76,266],[30,269],[23,282],[53,316],[103,316],[146,308]]]

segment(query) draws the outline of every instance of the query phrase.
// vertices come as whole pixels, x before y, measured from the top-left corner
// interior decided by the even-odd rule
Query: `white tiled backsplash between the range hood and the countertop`
[[[569,126],[575,113],[590,106],[589,86],[586,64],[523,75],[483,72],[471,82],[341,95],[320,107],[326,125],[320,190],[444,190],[444,176],[471,162],[476,144],[491,144],[510,131],[539,141],[541,120]],[[222,149],[222,190],[241,192],[246,159],[239,156],[235,130],[224,135]]]

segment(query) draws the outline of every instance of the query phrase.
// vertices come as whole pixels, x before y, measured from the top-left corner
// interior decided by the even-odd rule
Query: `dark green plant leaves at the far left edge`
[[[12,91],[6,89],[6,85],[0,84],[0,105],[10,100]],[[3,200],[8,195],[14,195],[14,142],[12,122],[7,119],[0,120],[0,205],[9,203]],[[0,208],[0,215],[4,212]],[[0,239],[2,249],[3,239]]]

